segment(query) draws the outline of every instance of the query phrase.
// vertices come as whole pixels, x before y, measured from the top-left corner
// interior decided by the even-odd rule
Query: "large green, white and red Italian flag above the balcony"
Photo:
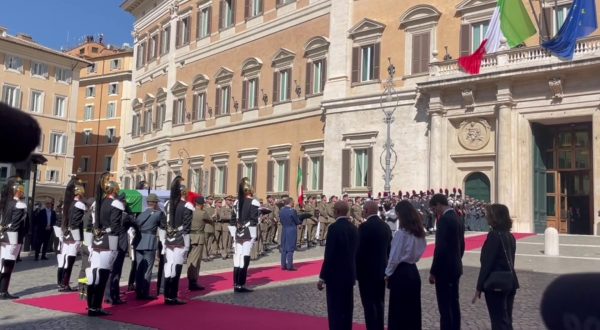
[[[513,48],[535,33],[536,29],[522,0],[498,0],[481,45],[473,54],[459,58],[458,64],[465,72],[478,74],[484,56],[497,52],[502,38]]]

